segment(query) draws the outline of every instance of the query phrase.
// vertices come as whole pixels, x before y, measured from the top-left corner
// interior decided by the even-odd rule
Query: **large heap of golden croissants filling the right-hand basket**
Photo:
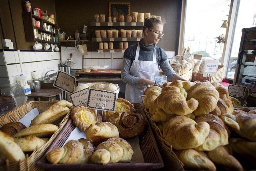
[[[234,110],[220,83],[176,80],[149,88],[144,108],[185,169],[244,170],[240,157],[256,164],[256,111]]]

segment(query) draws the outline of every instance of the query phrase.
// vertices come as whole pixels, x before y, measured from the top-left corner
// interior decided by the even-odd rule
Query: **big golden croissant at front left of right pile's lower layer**
[[[210,133],[210,125],[207,122],[199,122],[186,116],[174,115],[165,124],[163,138],[174,149],[196,148],[202,145]]]

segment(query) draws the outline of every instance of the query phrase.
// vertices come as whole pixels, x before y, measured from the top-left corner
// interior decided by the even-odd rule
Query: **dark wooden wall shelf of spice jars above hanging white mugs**
[[[22,12],[26,41],[38,41],[59,44],[58,25],[35,16],[31,12]]]

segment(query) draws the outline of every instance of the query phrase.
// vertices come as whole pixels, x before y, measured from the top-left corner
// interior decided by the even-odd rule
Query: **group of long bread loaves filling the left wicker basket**
[[[25,153],[40,149],[59,129],[57,126],[72,107],[60,100],[32,119],[28,128],[21,122],[9,122],[0,128],[0,164],[26,159]]]

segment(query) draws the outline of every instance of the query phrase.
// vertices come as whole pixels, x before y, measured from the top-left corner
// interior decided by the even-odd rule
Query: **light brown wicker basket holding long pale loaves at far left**
[[[30,110],[37,108],[38,111],[44,112],[48,107],[52,106],[52,104],[58,102],[58,100],[51,101],[30,101],[18,108],[12,110],[11,112],[5,114],[0,118],[0,127],[9,122],[17,122],[24,115],[26,115]],[[62,128],[66,125],[68,118],[70,116],[70,112],[64,117],[62,122],[59,124],[59,129],[51,136],[51,138],[46,142],[41,148],[33,151],[30,155],[26,155],[25,161],[20,161],[18,163],[8,163],[6,165],[0,165],[1,171],[37,171],[40,170],[36,166],[36,162],[42,157],[48,147],[51,145],[52,141],[58,136]]]

